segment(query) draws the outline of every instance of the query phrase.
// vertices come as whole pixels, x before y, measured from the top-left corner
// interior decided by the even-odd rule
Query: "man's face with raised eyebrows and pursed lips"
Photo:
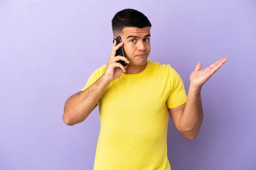
[[[129,65],[143,65],[150,54],[150,28],[125,27],[120,36]],[[115,39],[116,37],[114,37]]]

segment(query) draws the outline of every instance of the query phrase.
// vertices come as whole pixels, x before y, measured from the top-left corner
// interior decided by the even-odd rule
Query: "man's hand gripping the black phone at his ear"
[[[112,82],[115,79],[118,79],[125,71],[125,69],[128,66],[128,59],[123,56],[115,56],[116,50],[120,48],[123,45],[123,42],[116,45],[116,41],[113,43],[113,48],[111,51],[111,55],[108,60],[108,65],[105,69],[105,72],[103,74],[103,77],[105,80]],[[123,60],[127,63],[127,65],[124,67],[121,63],[117,62],[119,60]]]

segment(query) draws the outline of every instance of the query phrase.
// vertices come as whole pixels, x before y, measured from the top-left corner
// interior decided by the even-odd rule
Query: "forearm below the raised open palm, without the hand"
[[[198,135],[203,121],[200,93],[201,88],[195,88],[193,85],[189,86],[186,106],[180,117],[180,129],[189,139],[194,139]]]

